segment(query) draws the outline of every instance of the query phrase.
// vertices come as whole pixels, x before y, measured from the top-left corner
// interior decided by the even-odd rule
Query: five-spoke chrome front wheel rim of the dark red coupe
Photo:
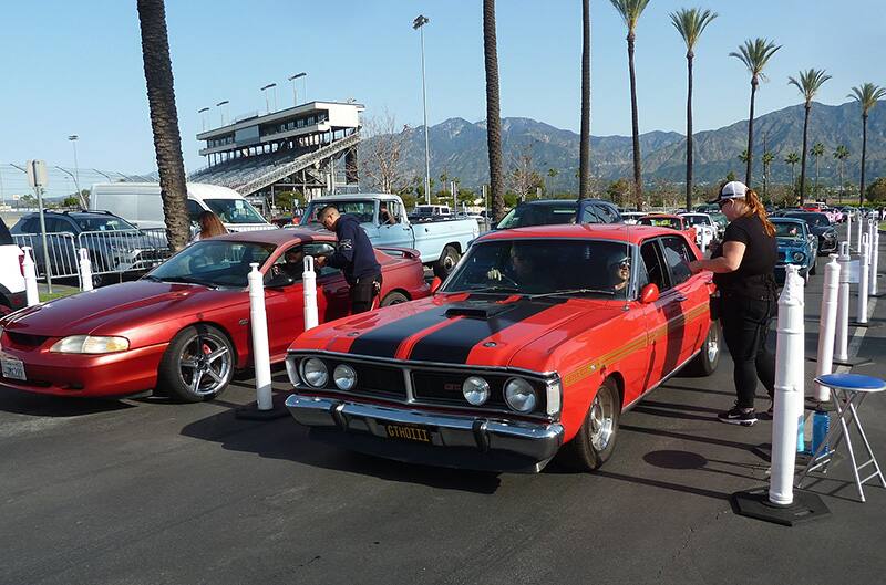
[[[189,393],[209,396],[227,385],[231,364],[227,339],[213,332],[196,333],[182,347],[178,375]]]

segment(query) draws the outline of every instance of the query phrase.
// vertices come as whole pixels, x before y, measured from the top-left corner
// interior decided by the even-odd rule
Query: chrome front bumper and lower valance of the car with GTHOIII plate
[[[287,398],[286,407],[297,422],[311,428],[315,438],[414,463],[534,472],[563,445],[564,431],[558,422],[429,414],[298,394]],[[404,440],[399,430],[402,427],[425,432]]]

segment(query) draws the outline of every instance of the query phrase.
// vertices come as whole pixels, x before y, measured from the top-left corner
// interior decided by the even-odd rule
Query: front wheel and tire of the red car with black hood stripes
[[[621,396],[614,379],[602,383],[588,407],[585,422],[563,448],[563,462],[578,471],[595,471],[611,457],[621,418]]]

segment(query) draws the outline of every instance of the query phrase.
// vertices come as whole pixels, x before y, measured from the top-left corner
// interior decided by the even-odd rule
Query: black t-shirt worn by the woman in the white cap
[[[714,274],[717,286],[723,292],[732,292],[748,297],[774,296],[775,262],[779,259],[779,244],[774,236],[763,229],[756,216],[743,216],[727,227],[723,244],[741,242],[744,257],[734,272]],[[713,258],[722,255],[722,247]]]

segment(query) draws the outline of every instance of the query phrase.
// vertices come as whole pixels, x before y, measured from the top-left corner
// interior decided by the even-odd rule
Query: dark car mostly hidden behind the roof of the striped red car
[[[620,223],[621,213],[602,199],[537,199],[525,201],[502,218],[496,230],[556,223]]]

